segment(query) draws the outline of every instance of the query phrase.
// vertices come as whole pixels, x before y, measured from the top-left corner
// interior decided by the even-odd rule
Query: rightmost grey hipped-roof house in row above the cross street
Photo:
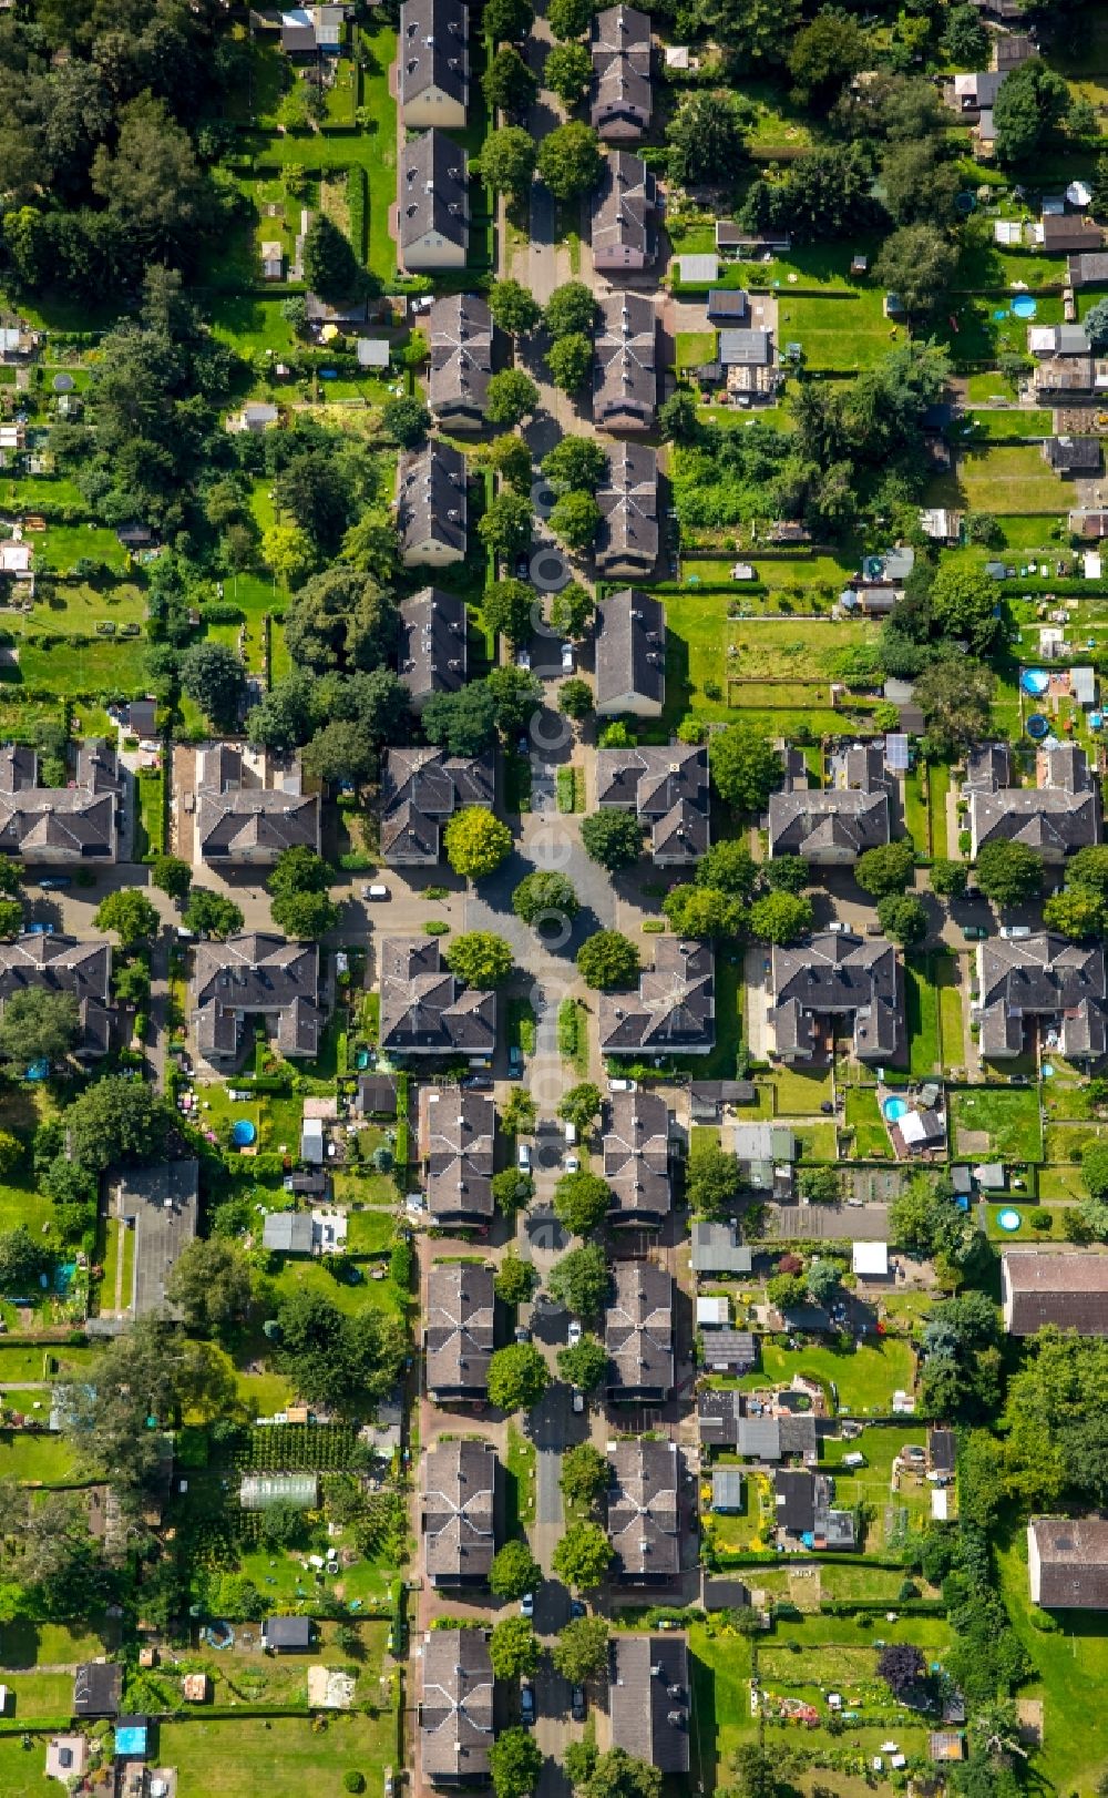
[[[970,852],[986,843],[1027,843],[1043,861],[1063,861],[1076,849],[1101,841],[1101,797],[1076,743],[1042,748],[1034,759],[1036,786],[1011,784],[1007,744],[975,750],[966,766],[963,797],[970,802]]]

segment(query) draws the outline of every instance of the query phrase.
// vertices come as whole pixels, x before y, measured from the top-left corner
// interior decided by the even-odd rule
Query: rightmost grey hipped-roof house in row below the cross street
[[[1103,944],[1068,942],[1052,931],[989,937],[977,946],[980,1052],[988,1061],[1024,1054],[1025,1019],[1058,1032],[1067,1061],[1108,1052],[1108,978]]]

